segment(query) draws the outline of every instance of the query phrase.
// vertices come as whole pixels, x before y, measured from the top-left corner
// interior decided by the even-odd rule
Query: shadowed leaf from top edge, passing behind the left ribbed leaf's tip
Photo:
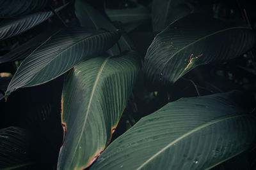
[[[116,31],[116,27],[111,24],[107,18],[103,17],[85,1],[76,0],[75,9],[76,16],[79,19],[81,26],[85,27],[86,29],[106,29],[108,31]],[[131,42],[127,36],[121,36],[118,43],[120,44],[122,52],[125,50],[132,50]],[[120,53],[117,45],[114,45],[111,49],[109,49],[108,52],[110,55],[118,55]]]

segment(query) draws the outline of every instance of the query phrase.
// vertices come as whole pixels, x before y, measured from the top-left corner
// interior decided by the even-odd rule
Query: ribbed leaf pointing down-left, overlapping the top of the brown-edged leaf
[[[105,52],[119,37],[119,32],[63,29],[22,62],[8,85],[6,96],[20,87],[40,85],[60,76],[79,62]]]

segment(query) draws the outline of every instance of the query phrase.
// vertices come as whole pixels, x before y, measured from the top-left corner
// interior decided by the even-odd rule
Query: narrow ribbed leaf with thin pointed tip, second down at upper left
[[[57,8],[55,11],[58,12],[62,10],[66,5]],[[52,13],[52,11],[44,11],[22,17],[5,19],[0,22],[0,40],[28,31],[32,27],[35,27],[36,25],[41,24],[48,18],[52,17],[53,14],[54,13]]]

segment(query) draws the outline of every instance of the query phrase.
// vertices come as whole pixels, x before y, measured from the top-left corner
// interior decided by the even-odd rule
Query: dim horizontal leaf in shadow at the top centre
[[[106,9],[108,17],[112,21],[120,21],[124,24],[131,24],[134,22],[143,22],[150,19],[150,13],[144,6],[138,6],[136,8],[126,8],[126,9]]]

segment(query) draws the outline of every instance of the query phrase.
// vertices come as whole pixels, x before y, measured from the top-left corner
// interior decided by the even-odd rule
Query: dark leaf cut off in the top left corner
[[[42,10],[48,0],[5,1],[0,0],[0,18],[16,17]]]

